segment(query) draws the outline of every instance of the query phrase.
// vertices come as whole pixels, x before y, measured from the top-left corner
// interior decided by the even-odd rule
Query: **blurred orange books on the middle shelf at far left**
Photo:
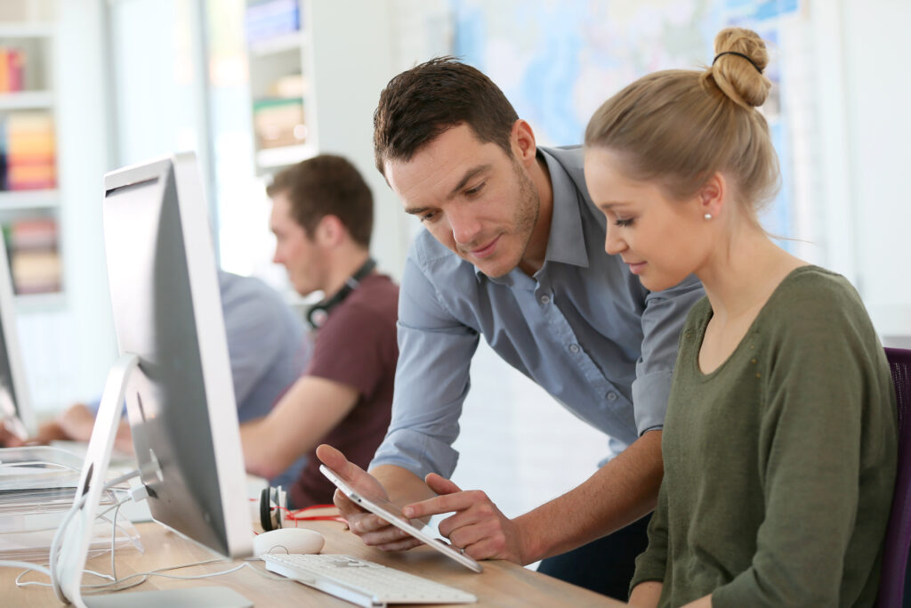
[[[56,139],[48,111],[10,112],[0,119],[0,190],[56,188]]]

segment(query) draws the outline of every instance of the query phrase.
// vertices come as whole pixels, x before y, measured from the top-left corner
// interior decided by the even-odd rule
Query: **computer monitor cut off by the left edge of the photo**
[[[15,326],[15,299],[6,248],[0,242],[0,421],[21,439],[36,433]]]

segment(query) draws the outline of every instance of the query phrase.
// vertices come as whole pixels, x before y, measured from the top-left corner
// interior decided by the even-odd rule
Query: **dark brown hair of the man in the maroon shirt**
[[[279,171],[266,188],[274,197],[288,193],[291,213],[308,237],[327,215],[337,217],[354,242],[367,249],[374,230],[374,195],[354,165],[341,156],[321,154]]]

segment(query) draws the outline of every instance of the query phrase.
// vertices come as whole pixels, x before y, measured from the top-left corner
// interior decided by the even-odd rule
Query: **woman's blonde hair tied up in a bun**
[[[658,180],[671,196],[700,190],[715,171],[736,180],[753,222],[778,190],[778,157],[756,109],[772,83],[763,39],[739,27],[715,37],[715,64],[641,77],[598,108],[585,145],[619,153],[637,180]]]

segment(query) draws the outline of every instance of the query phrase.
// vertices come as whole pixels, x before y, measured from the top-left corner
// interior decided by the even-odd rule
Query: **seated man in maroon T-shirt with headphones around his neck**
[[[304,160],[278,173],[267,192],[273,261],[299,294],[325,297],[308,314],[317,325],[309,366],[268,416],[241,425],[241,443],[247,470],[265,478],[310,454],[290,492],[300,509],[333,501],[317,445],[342,449],[365,468],[389,427],[398,286],[374,272],[373,195],[350,162]]]

